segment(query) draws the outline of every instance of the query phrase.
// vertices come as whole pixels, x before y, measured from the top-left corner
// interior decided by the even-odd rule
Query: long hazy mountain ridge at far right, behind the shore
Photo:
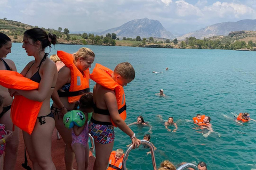
[[[256,31],[256,20],[241,20],[237,22],[217,23],[194,32],[189,32],[186,35],[178,37],[177,39],[185,40],[186,37],[204,39],[220,35],[228,36],[228,34],[232,31]]]

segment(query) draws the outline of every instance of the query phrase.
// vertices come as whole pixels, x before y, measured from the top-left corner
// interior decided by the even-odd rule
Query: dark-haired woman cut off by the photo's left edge
[[[0,70],[17,71],[13,61],[6,59],[6,55],[11,53],[12,41],[4,33],[0,32]],[[4,59],[3,59],[4,58]],[[0,113],[0,124],[5,124],[5,130],[12,131],[11,105],[13,98],[10,96],[7,88],[0,86],[0,95],[3,96],[3,112]],[[6,143],[4,169],[14,169],[17,159],[19,145],[19,129],[15,127],[12,140]]]

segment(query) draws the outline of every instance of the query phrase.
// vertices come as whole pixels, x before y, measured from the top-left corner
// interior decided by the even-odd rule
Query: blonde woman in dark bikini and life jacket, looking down
[[[61,55],[59,55],[59,52],[58,52],[58,56],[61,58]],[[66,56],[66,57],[70,57],[70,56]],[[89,78],[86,77],[86,74],[84,74],[84,71],[89,69],[89,67],[91,67],[91,64],[94,61],[94,57],[95,55],[92,52],[92,50],[85,47],[80,48],[75,54],[73,54],[73,61],[72,61],[73,63],[68,63],[68,65],[73,65],[73,70],[76,70],[76,71],[71,71],[69,67],[63,66],[58,73],[58,80],[57,80],[54,92],[52,94],[53,104],[52,104],[51,110],[55,116],[55,126],[58,132],[60,133],[63,141],[66,144],[65,164],[66,164],[66,169],[69,169],[69,170],[73,169],[73,161],[75,157],[74,151],[71,148],[71,142],[72,142],[71,132],[72,131],[71,129],[65,128],[62,119],[63,119],[63,115],[66,114],[68,111],[73,110],[75,106],[75,101],[69,103],[70,101],[69,97],[76,97],[81,95],[81,94],[74,94],[73,93],[74,91],[69,90],[71,89],[70,88],[71,81],[74,81],[74,79],[75,80],[77,79],[74,72],[81,72],[83,74],[83,75],[81,74],[81,77],[85,77],[85,78],[81,78],[81,82],[86,81],[84,79],[88,80]],[[61,61],[64,62],[62,59]],[[73,79],[71,80],[71,78]],[[79,81],[77,81],[77,83],[78,82]],[[76,84],[76,83],[74,82],[73,84]],[[69,92],[69,91],[72,91],[72,92]],[[80,92],[86,93],[86,89],[85,91],[81,90]],[[79,98],[76,101],[78,100]],[[89,151],[88,151],[88,154],[89,154]]]

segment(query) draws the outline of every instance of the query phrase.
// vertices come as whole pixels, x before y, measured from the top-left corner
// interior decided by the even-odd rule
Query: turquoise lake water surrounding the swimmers
[[[21,72],[25,64],[34,60],[27,56],[22,44],[13,44],[7,55]],[[82,46],[56,45],[56,50],[75,53]],[[121,62],[130,62],[136,72],[135,79],[125,87],[126,123],[142,115],[153,126],[151,142],[157,147],[156,164],[170,160],[197,164],[205,162],[208,169],[255,169],[256,122],[237,123],[234,115],[255,114],[256,53],[233,50],[161,49],[135,47],[86,46],[95,53],[95,63],[114,69]],[[47,52],[47,50],[46,50]],[[169,70],[165,70],[169,67]],[[92,71],[91,69],[91,71]],[[152,73],[163,72],[163,73]],[[94,82],[91,81],[91,90]],[[164,89],[166,97],[155,94]],[[209,137],[191,122],[196,114],[210,116],[215,131]],[[167,132],[163,122],[173,116],[178,131]],[[170,127],[171,129],[173,127]],[[137,138],[142,139],[148,127],[132,125]],[[116,128],[114,149],[126,150],[130,138]],[[127,160],[129,169],[153,169],[148,149],[132,150]]]

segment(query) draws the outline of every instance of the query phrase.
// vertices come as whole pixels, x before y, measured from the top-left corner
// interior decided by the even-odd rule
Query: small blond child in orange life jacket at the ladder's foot
[[[121,170],[123,167],[123,158],[124,151],[123,149],[117,149],[116,151],[112,151],[109,157],[109,166],[107,170]]]

